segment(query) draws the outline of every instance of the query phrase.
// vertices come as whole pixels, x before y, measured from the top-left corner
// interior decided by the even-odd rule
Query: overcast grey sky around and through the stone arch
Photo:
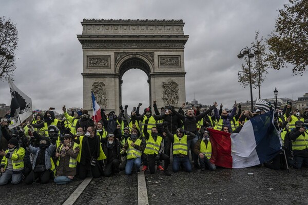
[[[242,88],[237,73],[244,60],[239,51],[254,41],[255,31],[267,37],[274,30],[277,9],[287,1],[2,1],[0,14],[11,18],[18,30],[15,85],[32,98],[33,109],[55,107],[61,111],[82,107],[83,18],[183,19],[186,101],[202,104],[218,101],[225,107],[250,100],[249,87]],[[130,81],[135,76],[140,80]],[[123,106],[148,105],[146,74],[129,70],[123,76]],[[308,92],[307,73],[292,75],[291,67],[269,69],[261,98],[297,100]],[[131,93],[137,96],[131,98]],[[253,91],[254,99],[258,91]],[[7,81],[0,81],[0,103],[10,105]],[[184,102],[183,102],[184,103]],[[161,105],[158,105],[159,107]]]

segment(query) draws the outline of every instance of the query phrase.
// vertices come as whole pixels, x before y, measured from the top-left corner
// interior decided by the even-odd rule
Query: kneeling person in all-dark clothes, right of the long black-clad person
[[[107,138],[102,139],[102,146],[107,157],[104,160],[104,176],[109,177],[112,174],[118,174],[121,163],[121,146],[119,140],[114,137],[114,134],[109,133]]]

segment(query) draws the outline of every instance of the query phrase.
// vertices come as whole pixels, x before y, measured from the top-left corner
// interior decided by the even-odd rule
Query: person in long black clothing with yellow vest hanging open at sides
[[[103,159],[106,155],[103,152],[100,137],[96,135],[94,127],[88,127],[84,136],[74,139],[79,144],[80,151],[77,156],[79,164],[79,178],[85,179],[88,171],[91,171],[93,178],[98,178],[103,174]]]

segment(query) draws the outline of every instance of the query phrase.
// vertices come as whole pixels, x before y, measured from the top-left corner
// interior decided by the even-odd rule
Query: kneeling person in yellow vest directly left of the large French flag
[[[204,171],[205,167],[211,171],[214,171],[216,170],[216,166],[209,161],[211,157],[209,132],[204,130],[201,137],[201,140],[198,140],[194,147],[194,152],[199,156],[201,171]]]

